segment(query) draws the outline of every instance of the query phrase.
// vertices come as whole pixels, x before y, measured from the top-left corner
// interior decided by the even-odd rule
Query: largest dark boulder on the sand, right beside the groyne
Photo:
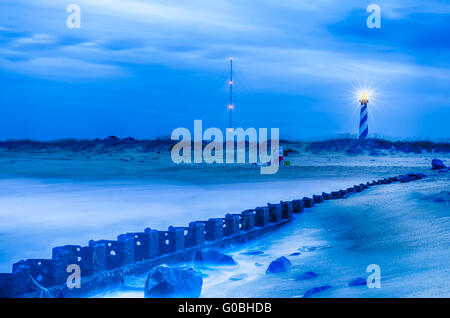
[[[160,265],[153,268],[145,283],[146,298],[198,298],[203,278],[192,268]]]

